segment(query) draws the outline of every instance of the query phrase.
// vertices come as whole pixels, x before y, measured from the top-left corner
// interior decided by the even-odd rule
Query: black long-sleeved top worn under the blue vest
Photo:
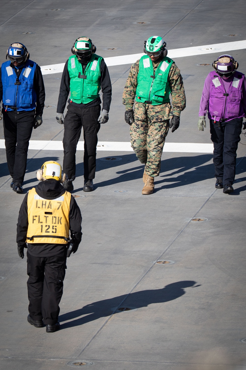
[[[12,67],[13,70],[15,71],[16,77],[19,77],[25,65],[23,65],[23,67],[21,67],[18,70],[17,68],[14,67],[12,63],[10,63],[10,67]],[[35,68],[33,84],[34,84],[34,90],[36,91],[36,94],[37,94],[37,102],[36,102],[37,107],[35,109],[35,113],[37,115],[42,115],[43,110],[44,110],[45,90],[44,90],[43,76],[42,76],[39,65],[36,65],[36,68]],[[0,68],[0,102],[2,99],[3,99],[3,83],[2,83],[2,69]],[[14,111],[14,112],[17,112],[17,111]]]

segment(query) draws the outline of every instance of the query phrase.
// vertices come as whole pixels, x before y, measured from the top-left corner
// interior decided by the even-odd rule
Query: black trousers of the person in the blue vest
[[[24,181],[27,151],[34,124],[35,110],[19,113],[2,110],[7,165],[13,181]]]

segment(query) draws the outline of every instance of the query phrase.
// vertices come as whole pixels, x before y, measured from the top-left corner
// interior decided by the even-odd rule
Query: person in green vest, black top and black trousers
[[[100,124],[108,121],[112,87],[107,65],[96,55],[96,46],[88,37],[79,37],[71,49],[72,56],[65,63],[60,83],[56,120],[64,124],[63,169],[67,174],[63,186],[73,190],[75,180],[75,154],[81,130],[84,131],[84,187],[93,191],[96,171],[97,132]],[[103,93],[103,107],[99,91]],[[63,112],[69,95],[67,113]],[[100,114],[101,111],[101,114]]]

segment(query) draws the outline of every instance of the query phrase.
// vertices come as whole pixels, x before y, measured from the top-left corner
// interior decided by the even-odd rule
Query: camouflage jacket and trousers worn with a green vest
[[[160,58],[156,63],[152,61],[154,74],[161,62]],[[132,64],[125,84],[123,104],[126,111],[132,110],[134,107],[138,73],[139,60]],[[174,62],[171,64],[167,81],[171,89],[173,109],[170,101],[159,105],[136,101],[134,120],[130,126],[132,148],[139,161],[145,164],[146,175],[151,177],[159,176],[160,173],[161,156],[169,130],[170,118],[180,117],[180,112],[186,107],[182,76]]]

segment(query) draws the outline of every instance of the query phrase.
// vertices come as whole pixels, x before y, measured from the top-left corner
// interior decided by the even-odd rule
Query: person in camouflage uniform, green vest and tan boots
[[[154,177],[160,173],[167,132],[169,127],[172,127],[172,132],[179,127],[186,97],[180,70],[167,57],[162,37],[148,38],[144,43],[144,53],[147,55],[131,66],[123,104],[126,107],[125,121],[130,125],[132,148],[139,161],[145,164],[142,194],[148,195],[153,193]]]

